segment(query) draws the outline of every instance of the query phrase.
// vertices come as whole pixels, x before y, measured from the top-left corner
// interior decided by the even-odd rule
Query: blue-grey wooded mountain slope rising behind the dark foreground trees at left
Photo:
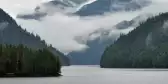
[[[69,65],[69,58],[56,50],[52,45],[48,46],[38,35],[23,30],[16,21],[0,9],[0,43],[1,44],[23,44],[32,49],[47,48],[56,56],[60,57],[62,65]]]

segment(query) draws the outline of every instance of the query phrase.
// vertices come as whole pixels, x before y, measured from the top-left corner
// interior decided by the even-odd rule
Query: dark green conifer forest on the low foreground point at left
[[[32,50],[23,45],[0,45],[0,76],[59,76],[58,56],[48,49]]]

